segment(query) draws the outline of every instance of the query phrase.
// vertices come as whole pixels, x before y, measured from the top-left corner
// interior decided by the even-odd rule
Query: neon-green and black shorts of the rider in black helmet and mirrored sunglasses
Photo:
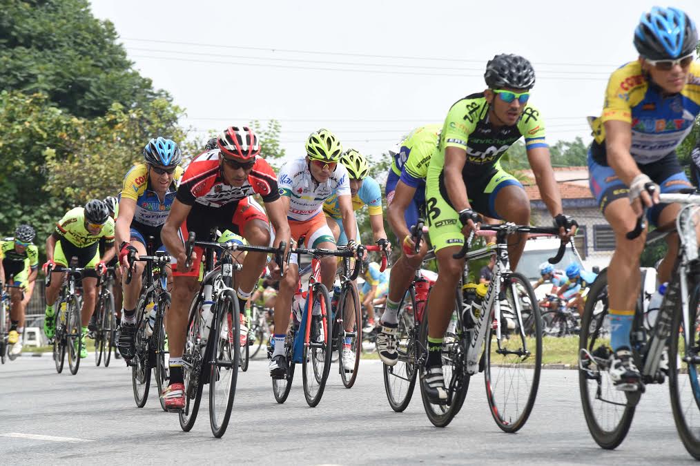
[[[430,178],[428,172],[428,178]],[[426,209],[428,209],[428,234],[430,243],[435,250],[449,246],[461,246],[464,244],[464,236],[461,232],[462,224],[459,214],[442,198],[437,179],[430,182],[430,190],[426,190]],[[467,196],[472,209],[484,216],[491,218],[501,217],[496,212],[496,196],[506,186],[519,186],[525,190],[517,179],[500,168],[496,164],[484,178],[475,178],[465,183]]]

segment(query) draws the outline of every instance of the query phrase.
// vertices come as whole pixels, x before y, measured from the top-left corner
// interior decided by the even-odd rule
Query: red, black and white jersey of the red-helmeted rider
[[[188,206],[202,204],[221,207],[259,194],[264,202],[279,199],[277,177],[265,159],[255,157],[255,165],[242,186],[226,183],[219,167],[219,150],[209,150],[195,158],[183,174],[177,199]]]

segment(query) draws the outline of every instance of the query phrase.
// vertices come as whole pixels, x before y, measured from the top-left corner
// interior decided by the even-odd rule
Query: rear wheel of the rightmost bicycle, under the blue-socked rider
[[[610,380],[608,271],[591,285],[583,313],[578,349],[578,384],[588,430],[598,445],[615,449],[622,443],[634,417],[638,392],[616,390]]]

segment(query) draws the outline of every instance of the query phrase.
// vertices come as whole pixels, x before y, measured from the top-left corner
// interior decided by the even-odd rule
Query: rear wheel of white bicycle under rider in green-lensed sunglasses
[[[428,301],[429,300],[430,298],[428,298]],[[456,330],[461,329],[461,316],[457,309],[461,310],[461,300],[458,298],[455,301],[451,316],[451,320],[457,321]],[[464,334],[464,332],[460,333]],[[456,333],[447,332],[442,341],[442,374],[444,376],[445,387],[449,393],[448,403],[431,403],[430,400],[428,400],[428,395],[423,391],[423,384],[421,383],[423,408],[426,410],[428,419],[435,427],[446,427],[452,421],[452,418],[454,418],[461,409],[469,388],[469,376],[461,369],[466,355],[463,354],[463,346],[460,338],[461,337]],[[419,366],[419,374],[422,381],[425,377],[425,361],[428,358],[428,302],[426,302],[426,307],[423,311],[418,345],[419,347],[416,348],[416,351],[420,356],[417,359],[417,365]]]

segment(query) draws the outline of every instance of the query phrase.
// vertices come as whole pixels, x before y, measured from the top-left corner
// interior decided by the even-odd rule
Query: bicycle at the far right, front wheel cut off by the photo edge
[[[579,343],[580,395],[594,441],[603,449],[615,449],[629,431],[645,384],[664,381],[659,364],[667,348],[668,388],[676,429],[688,453],[700,460],[700,259],[694,219],[700,210],[700,195],[661,194],[659,199],[664,204],[682,204],[675,229],[680,237],[680,248],[671,282],[650,330],[646,329],[645,316],[640,311],[648,297],[641,292],[637,298],[630,341],[642,383],[637,390],[620,391],[615,389],[608,375],[612,351],[605,319],[609,310],[608,271],[605,269],[591,285],[583,315]],[[645,222],[640,218],[627,237],[633,239],[644,228]],[[651,232],[646,243],[658,241],[666,234],[668,232]]]

